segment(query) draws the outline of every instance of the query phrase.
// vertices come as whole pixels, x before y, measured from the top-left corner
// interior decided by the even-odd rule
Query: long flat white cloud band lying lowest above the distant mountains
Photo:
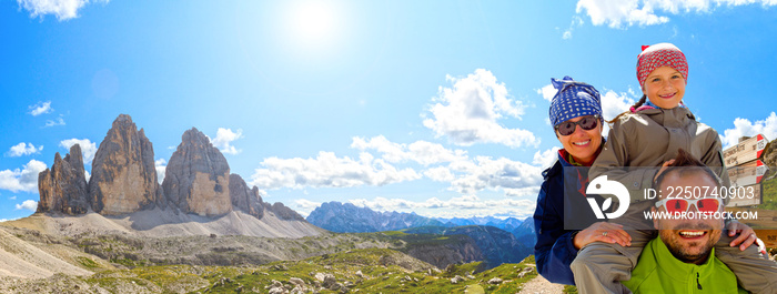
[[[534,194],[536,195],[536,193]],[[483,200],[476,195],[462,195],[450,200],[431,197],[422,202],[404,199],[375,197],[374,200],[353,199],[352,204],[369,207],[374,211],[432,211],[437,217],[470,217],[477,215],[516,215],[528,216],[534,212],[535,202],[532,200],[498,199]]]

